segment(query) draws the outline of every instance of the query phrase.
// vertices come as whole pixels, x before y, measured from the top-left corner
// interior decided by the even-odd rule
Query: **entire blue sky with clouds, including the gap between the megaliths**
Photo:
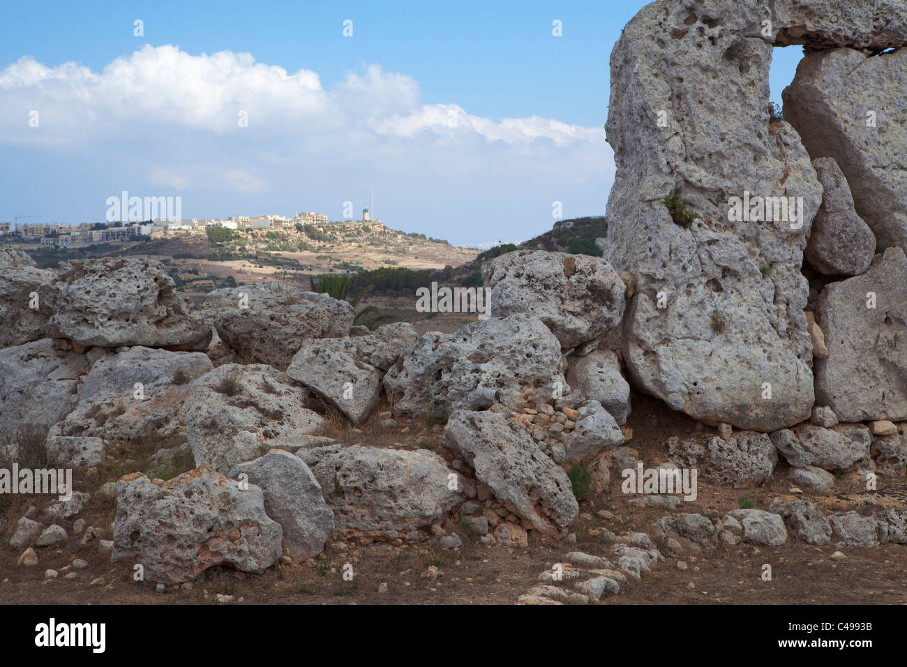
[[[458,243],[602,214],[608,60],[642,5],[7,4],[0,221],[100,221],[123,190],[333,220],[371,183],[388,226]],[[775,49],[776,101],[799,58]]]

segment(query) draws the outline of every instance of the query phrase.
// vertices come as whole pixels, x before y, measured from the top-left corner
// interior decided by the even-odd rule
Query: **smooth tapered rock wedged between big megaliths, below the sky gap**
[[[813,167],[824,194],[806,243],[806,260],[823,273],[857,276],[873,261],[873,231],[853,210],[853,196],[837,162],[818,158]]]

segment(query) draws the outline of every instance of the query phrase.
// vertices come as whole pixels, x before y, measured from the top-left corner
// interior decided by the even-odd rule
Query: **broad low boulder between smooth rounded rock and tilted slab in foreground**
[[[339,537],[413,538],[463,501],[462,478],[426,449],[332,445],[296,456],[321,485]]]

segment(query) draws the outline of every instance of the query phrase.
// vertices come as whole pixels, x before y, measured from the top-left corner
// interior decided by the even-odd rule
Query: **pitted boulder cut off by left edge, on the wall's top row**
[[[38,289],[54,280],[54,271],[38,269],[34,260],[12,246],[0,246],[0,348],[49,338],[51,313]]]

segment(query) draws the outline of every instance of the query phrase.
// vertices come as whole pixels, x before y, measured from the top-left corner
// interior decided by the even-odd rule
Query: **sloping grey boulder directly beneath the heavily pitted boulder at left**
[[[97,359],[79,403],[51,437],[149,440],[180,437],[177,418],[192,384],[214,367],[202,352],[135,346]]]

